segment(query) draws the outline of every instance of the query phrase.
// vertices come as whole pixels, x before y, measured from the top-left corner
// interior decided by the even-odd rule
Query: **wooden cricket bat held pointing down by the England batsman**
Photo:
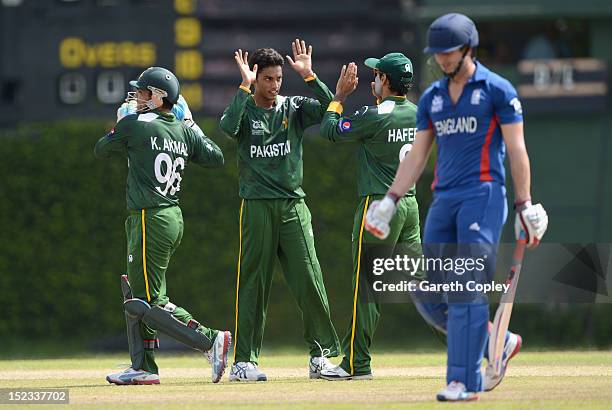
[[[525,236],[521,233],[521,237],[518,239],[514,252],[512,254],[512,266],[508,277],[506,278],[506,284],[510,285],[508,292],[502,295],[499,302],[499,307],[495,312],[495,320],[491,328],[491,334],[489,335],[489,365],[491,371],[495,376],[499,376],[502,371],[502,358],[504,354],[504,343],[506,340],[506,332],[508,331],[508,325],[510,324],[510,315],[512,314],[512,307],[514,306],[514,296],[516,295],[516,287],[518,284],[519,276],[521,274],[521,265],[523,263],[523,256],[525,255],[526,241]]]

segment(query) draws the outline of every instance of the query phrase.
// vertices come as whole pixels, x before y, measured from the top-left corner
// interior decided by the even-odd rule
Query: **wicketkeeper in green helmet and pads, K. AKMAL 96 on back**
[[[128,159],[129,167],[127,275],[122,276],[121,287],[132,365],[106,380],[121,385],[159,384],[153,351],[159,346],[156,333],[160,330],[203,352],[216,383],[227,364],[231,334],[201,325],[170,302],[166,269],[183,236],[178,205],[185,167],[189,161],[219,167],[223,154],[213,141],[172,113],[179,101],[179,82],[172,72],[150,67],[130,85],[136,91],[128,93],[127,103],[118,110],[117,125],[94,148],[96,157],[119,154]]]

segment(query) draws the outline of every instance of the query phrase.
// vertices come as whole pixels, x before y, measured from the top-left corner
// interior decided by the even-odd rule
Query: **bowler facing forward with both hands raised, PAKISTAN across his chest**
[[[295,40],[292,48],[287,60],[316,99],[279,95],[284,61],[276,50],[259,49],[250,59],[238,50],[242,84],[221,117],[238,144],[242,198],[232,381],[267,380],[258,357],[276,258],[301,311],[310,378],[333,367],[327,357],[340,349],[301,186],[304,130],[321,121],[333,95],[312,71],[312,46]]]

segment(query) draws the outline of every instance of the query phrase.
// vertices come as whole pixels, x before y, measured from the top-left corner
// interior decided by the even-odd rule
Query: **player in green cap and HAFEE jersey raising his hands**
[[[353,315],[342,340],[344,358],[339,366],[321,372],[327,380],[372,378],[370,346],[380,317],[378,303],[359,300],[359,282],[363,247],[367,245],[419,243],[419,209],[414,187],[398,204],[391,234],[377,239],[364,230],[368,206],[384,197],[393,182],[400,161],[410,151],[416,132],[415,104],[406,94],[413,82],[412,62],[401,53],[368,58],[366,66],[374,70],[372,92],[378,105],[365,106],[354,115],[343,116],[342,104],[357,87],[357,66],[342,67],[336,94],[321,123],[321,135],[333,142],[358,144],[357,189],[361,198],[353,222]]]

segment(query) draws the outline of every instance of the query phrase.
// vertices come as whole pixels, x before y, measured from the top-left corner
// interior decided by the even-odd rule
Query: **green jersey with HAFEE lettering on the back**
[[[387,97],[379,105],[364,106],[342,116],[342,105],[332,102],[321,122],[321,136],[334,142],[360,144],[357,163],[359,196],[385,194],[399,163],[412,148],[417,106],[405,97]],[[407,196],[414,196],[413,187]]]

